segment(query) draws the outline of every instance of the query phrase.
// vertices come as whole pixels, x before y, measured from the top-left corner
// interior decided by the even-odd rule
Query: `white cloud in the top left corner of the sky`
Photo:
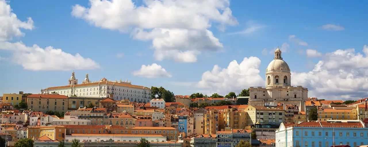
[[[13,36],[24,36],[20,29],[32,30],[34,28],[31,17],[27,21],[20,21],[8,4],[0,0],[0,41],[11,40]]]

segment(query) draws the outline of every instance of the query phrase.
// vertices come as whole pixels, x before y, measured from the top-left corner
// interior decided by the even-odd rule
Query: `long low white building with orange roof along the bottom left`
[[[66,135],[66,142],[71,141],[77,138],[80,142],[88,141],[89,142],[105,142],[114,140],[114,141],[129,141],[129,142],[139,142],[141,138],[146,138],[149,142],[167,142],[166,137],[162,135],[127,135],[127,134],[72,134]],[[86,143],[85,143],[86,144]]]

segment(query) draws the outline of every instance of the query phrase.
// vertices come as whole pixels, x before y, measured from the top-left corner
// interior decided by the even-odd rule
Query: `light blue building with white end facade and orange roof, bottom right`
[[[368,145],[368,128],[360,120],[282,123],[275,132],[276,147]]]

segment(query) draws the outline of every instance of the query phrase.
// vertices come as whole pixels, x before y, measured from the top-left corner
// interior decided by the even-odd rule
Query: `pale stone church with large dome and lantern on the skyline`
[[[266,87],[250,87],[249,104],[253,106],[292,104],[304,111],[304,101],[308,98],[308,89],[302,86],[291,86],[289,65],[283,60],[281,50],[277,46],[275,58],[266,68]]]

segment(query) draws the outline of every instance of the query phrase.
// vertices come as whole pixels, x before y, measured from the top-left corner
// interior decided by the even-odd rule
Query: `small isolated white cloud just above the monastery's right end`
[[[134,76],[144,77],[144,78],[159,78],[159,77],[169,77],[171,74],[168,73],[161,65],[153,63],[152,65],[142,65],[141,69],[133,72]]]

